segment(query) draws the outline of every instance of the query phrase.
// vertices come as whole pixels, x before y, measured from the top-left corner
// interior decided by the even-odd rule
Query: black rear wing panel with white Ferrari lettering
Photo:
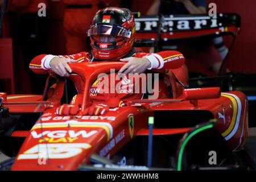
[[[159,26],[162,32],[172,32],[227,27],[232,24],[235,26],[240,24],[240,18],[236,14],[164,15],[160,18],[158,16],[141,16],[141,18],[135,19],[138,32],[157,32]]]

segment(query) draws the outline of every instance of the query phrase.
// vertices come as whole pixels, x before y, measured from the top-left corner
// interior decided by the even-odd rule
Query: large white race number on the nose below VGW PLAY
[[[20,159],[38,159],[39,154],[44,152],[48,159],[65,159],[76,156],[82,152],[82,149],[88,149],[92,146],[88,143],[49,143],[37,144],[18,156]]]

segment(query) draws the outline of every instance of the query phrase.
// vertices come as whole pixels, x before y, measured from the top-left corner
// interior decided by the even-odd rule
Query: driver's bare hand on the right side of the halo
[[[129,73],[143,73],[147,68],[151,67],[151,63],[146,58],[138,57],[126,57],[120,59],[120,61],[128,62],[126,63],[118,72],[118,74],[124,73],[125,75]]]

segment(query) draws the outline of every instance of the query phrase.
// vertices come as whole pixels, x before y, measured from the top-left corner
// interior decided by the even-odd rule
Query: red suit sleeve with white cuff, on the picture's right
[[[148,69],[177,69],[185,63],[185,58],[178,51],[162,51],[158,53],[136,53],[134,57],[145,57],[151,67]]]

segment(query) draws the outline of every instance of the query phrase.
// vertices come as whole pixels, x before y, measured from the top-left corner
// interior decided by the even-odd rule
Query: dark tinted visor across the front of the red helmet
[[[122,36],[125,38],[131,37],[131,31],[118,26],[116,24],[107,23],[96,23],[87,32],[88,36],[91,35],[112,35],[112,36]]]

